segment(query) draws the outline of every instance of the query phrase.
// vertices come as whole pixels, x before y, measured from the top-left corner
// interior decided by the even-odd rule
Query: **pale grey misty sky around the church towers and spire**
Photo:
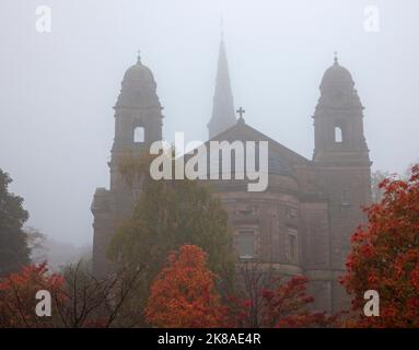
[[[49,34],[35,30],[40,4],[53,10]],[[379,33],[364,30],[370,4]],[[1,0],[0,168],[28,225],[91,244],[92,196],[109,183],[112,107],[138,49],[158,83],[164,138],[207,138],[221,15],[247,124],[311,159],[311,116],[336,49],[365,106],[373,170],[419,159],[417,0]]]

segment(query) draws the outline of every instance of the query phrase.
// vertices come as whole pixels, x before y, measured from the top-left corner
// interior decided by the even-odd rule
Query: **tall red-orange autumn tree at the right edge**
[[[341,282],[353,296],[357,327],[419,327],[419,165],[407,180],[391,177],[383,199],[370,208],[368,224],[351,237]],[[380,317],[365,317],[364,292],[380,295]]]

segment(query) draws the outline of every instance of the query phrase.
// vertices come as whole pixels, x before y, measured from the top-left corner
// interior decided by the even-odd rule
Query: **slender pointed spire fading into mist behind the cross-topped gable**
[[[224,39],[221,36],[220,54],[216,80],[216,93],[212,102],[212,116],[208,124],[209,138],[221,133],[235,125],[233,94],[230,85],[229,65]]]

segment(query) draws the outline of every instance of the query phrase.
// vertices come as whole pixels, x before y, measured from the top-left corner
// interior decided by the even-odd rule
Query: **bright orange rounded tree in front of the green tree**
[[[166,266],[151,287],[147,320],[155,327],[220,327],[225,307],[216,291],[216,275],[208,255],[196,245],[184,245],[168,255]]]

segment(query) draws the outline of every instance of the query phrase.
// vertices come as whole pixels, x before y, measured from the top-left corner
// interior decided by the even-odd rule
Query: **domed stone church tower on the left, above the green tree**
[[[92,203],[94,215],[93,273],[104,276],[112,267],[107,246],[118,222],[131,213],[139,188],[129,188],[119,172],[119,160],[141,155],[149,145],[162,140],[162,106],[156,84],[149,68],[141,63],[130,67],[121,83],[114,107],[115,138],[109,165],[110,188],[97,188]]]

